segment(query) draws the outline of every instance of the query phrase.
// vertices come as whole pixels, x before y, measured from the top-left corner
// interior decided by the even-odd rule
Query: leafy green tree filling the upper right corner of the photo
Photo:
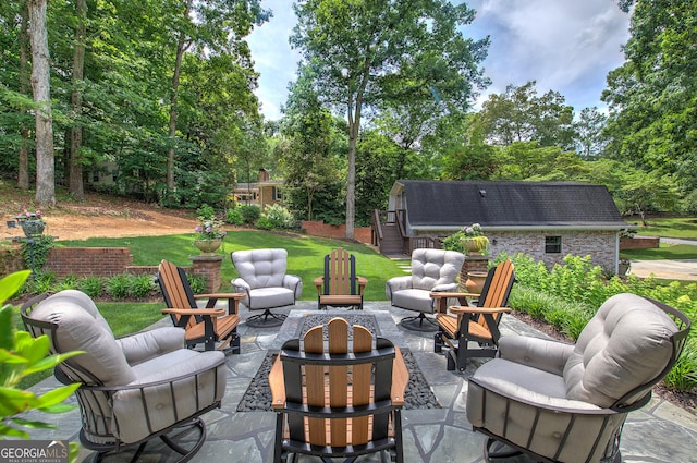
[[[625,63],[610,72],[608,155],[697,188],[697,1],[623,0]]]

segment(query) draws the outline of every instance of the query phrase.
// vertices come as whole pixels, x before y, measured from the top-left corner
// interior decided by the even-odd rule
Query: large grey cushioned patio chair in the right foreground
[[[620,462],[627,414],[649,402],[689,327],[674,308],[625,293],[602,304],[575,345],[502,337],[500,356],[475,371],[467,391],[467,418],[488,436],[485,459]]]

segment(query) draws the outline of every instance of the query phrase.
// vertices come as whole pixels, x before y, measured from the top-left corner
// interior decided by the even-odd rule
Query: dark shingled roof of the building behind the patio
[[[626,227],[608,188],[575,182],[400,180],[412,227]]]

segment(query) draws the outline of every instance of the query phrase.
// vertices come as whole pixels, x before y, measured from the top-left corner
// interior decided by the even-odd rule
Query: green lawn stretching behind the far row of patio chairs
[[[176,265],[189,265],[188,257],[197,255],[198,249],[193,245],[194,234],[168,236],[142,236],[121,239],[88,239],[84,241],[61,241],[58,244],[69,247],[129,247],[133,254],[134,265],[158,265],[161,259],[168,259]],[[356,256],[356,271],[368,279],[365,298],[367,301],[386,301],[384,283],[395,276],[404,275],[393,261],[372,248],[340,240],[329,240],[317,236],[305,236],[290,233],[274,233],[260,230],[243,230],[228,232],[223,246],[219,252],[224,256],[221,276],[222,291],[232,291],[230,281],[236,271],[230,259],[230,253],[240,249],[256,249],[265,247],[282,247],[288,251],[288,273],[297,275],[303,279],[304,301],[317,298],[317,291],[313,285],[315,277],[323,273],[325,255],[335,247],[343,247]]]

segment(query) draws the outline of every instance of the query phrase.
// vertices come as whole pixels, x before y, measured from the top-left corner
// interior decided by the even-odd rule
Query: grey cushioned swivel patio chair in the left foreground
[[[91,298],[76,290],[32,298],[22,319],[35,338],[48,336],[51,354],[84,351],[54,374],[62,383],[81,383],[80,441],[96,461],[129,451],[134,461],[146,452],[186,462],[200,449],[199,416],[220,407],[225,391],[222,352],[186,349],[184,330],[174,327],[114,339]]]

